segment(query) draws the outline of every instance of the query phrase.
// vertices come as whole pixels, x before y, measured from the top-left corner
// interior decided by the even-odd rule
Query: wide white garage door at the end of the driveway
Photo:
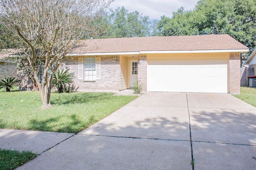
[[[148,92],[228,92],[228,59],[148,59]]]

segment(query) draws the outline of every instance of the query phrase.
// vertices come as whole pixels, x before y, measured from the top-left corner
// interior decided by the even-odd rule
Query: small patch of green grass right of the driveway
[[[256,107],[256,88],[241,87],[240,94],[234,96]]]

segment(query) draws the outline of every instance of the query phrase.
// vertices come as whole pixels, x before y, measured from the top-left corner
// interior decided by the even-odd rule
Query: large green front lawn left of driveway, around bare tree
[[[137,96],[113,93],[52,93],[49,109],[41,109],[39,92],[0,92],[0,128],[78,133]]]

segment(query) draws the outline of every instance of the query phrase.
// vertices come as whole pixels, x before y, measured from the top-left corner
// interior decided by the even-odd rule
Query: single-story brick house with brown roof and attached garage
[[[88,39],[65,63],[79,90],[240,93],[240,53],[229,35]]]

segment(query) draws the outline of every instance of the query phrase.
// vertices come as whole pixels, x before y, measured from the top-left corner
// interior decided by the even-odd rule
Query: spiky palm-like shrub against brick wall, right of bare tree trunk
[[[74,74],[68,73],[68,71],[69,69],[62,69],[54,73],[52,84],[57,88],[59,93],[70,91],[70,84],[73,83]]]

